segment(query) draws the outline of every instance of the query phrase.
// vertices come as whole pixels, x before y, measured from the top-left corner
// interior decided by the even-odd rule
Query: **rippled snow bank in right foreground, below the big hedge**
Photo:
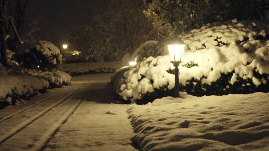
[[[141,151],[269,150],[269,93],[183,97],[129,108]]]

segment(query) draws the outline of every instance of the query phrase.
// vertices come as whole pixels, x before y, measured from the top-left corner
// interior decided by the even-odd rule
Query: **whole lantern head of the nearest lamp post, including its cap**
[[[168,47],[171,62],[181,62],[184,55],[184,49],[185,49],[184,42],[179,38],[173,38],[167,44],[167,47]]]

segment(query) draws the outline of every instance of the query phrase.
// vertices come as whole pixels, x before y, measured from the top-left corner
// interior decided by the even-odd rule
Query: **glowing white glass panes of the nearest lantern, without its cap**
[[[174,45],[167,45],[169,56],[171,61],[182,61],[183,55],[184,55],[184,44],[174,44]]]

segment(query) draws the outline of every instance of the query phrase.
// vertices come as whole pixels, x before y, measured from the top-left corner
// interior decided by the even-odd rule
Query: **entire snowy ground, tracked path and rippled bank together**
[[[74,76],[0,110],[0,151],[269,151],[269,93],[123,105],[110,76]]]

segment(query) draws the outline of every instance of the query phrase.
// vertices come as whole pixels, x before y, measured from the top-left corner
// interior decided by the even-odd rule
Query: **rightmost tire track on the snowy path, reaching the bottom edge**
[[[61,118],[54,125],[52,125],[47,132],[44,132],[44,135],[41,137],[41,139],[37,143],[35,143],[35,145],[29,151],[44,150],[49,140],[56,134],[57,130],[67,121],[67,119],[77,110],[77,108],[82,104],[84,99],[77,101],[75,105],[69,108],[69,110],[63,116],[61,116]]]

